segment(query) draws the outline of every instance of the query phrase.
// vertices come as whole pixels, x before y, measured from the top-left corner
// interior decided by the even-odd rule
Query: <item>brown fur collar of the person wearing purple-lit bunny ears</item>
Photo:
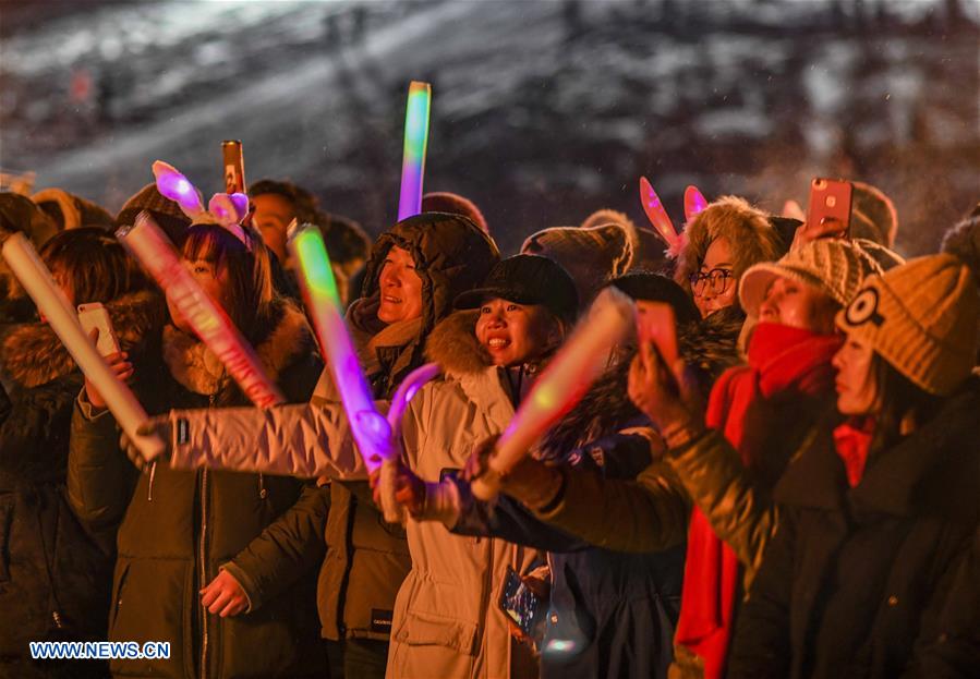
[[[273,328],[258,342],[255,353],[274,383],[297,356],[310,351],[313,334],[306,317],[291,302],[274,302]],[[196,337],[172,325],[164,328],[164,362],[173,378],[184,388],[204,396],[214,396],[231,378],[214,353]]]

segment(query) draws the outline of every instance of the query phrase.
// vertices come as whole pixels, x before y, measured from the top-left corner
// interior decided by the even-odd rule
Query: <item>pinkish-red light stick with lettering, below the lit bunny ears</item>
[[[268,378],[255,351],[221,308],[201,288],[180,260],[173,244],[148,213],[136,216],[136,225],[117,232],[119,241],[167,293],[194,334],[207,344],[242,391],[258,408],[285,403],[286,399]]]

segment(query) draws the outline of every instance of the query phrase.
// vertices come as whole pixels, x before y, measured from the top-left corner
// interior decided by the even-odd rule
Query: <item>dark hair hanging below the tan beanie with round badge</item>
[[[916,427],[929,422],[945,400],[929,393],[899,373],[881,354],[871,359],[871,374],[878,389],[878,422],[871,450],[876,452],[895,445],[902,437],[902,423],[911,416]]]

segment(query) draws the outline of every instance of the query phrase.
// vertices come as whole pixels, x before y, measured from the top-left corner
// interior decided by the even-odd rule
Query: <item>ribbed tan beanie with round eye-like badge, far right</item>
[[[869,278],[836,320],[929,393],[949,396],[973,367],[978,317],[970,270],[941,254]]]

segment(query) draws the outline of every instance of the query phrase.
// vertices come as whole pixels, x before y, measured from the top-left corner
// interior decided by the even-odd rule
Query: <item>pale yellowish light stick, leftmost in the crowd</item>
[[[64,293],[55,282],[51,272],[37,256],[23,233],[14,233],[3,243],[3,258],[24,290],[47,317],[48,324],[64,344],[72,359],[95,384],[116,421],[147,461],[164,452],[166,444],[157,436],[143,436],[136,429],[148,417],[133,392],[122,383],[99,355],[92,340],[78,324],[78,317]]]

